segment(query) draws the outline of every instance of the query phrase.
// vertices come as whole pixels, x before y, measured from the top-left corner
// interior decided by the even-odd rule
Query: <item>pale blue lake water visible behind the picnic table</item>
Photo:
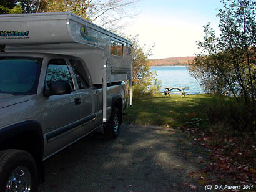
[[[163,66],[163,67],[151,67],[152,70],[157,72],[157,79],[161,83],[161,91],[165,90],[165,87],[189,87],[187,94],[202,94],[197,80],[189,74],[186,67],[183,66]],[[186,89],[185,89],[186,91]]]

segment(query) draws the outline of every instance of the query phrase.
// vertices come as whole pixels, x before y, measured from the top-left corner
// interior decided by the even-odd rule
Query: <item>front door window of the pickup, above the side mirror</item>
[[[72,82],[69,68],[64,59],[51,59],[49,60],[47,72],[46,72],[46,83],[49,86],[52,81],[64,80],[70,82],[72,90],[74,90],[74,84]]]

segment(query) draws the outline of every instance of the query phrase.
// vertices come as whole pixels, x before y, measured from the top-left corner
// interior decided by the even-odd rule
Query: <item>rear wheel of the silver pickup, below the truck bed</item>
[[[104,126],[104,135],[107,139],[115,139],[119,135],[121,124],[121,112],[114,107],[109,121]]]

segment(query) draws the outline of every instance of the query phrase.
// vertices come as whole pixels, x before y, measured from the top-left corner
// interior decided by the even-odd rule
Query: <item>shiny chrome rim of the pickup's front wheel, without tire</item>
[[[6,183],[6,192],[29,192],[31,189],[31,174],[24,167],[19,166],[12,171]]]

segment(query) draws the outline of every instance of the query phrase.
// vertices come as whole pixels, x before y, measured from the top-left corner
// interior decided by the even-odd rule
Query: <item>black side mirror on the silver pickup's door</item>
[[[63,95],[70,94],[72,92],[72,87],[68,81],[53,81],[49,84],[49,90],[44,90],[44,95]]]

